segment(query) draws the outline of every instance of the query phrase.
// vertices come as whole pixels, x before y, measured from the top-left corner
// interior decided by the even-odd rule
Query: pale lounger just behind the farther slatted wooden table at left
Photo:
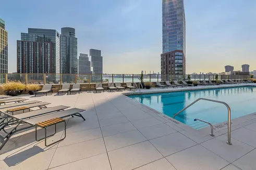
[[[35,108],[35,107],[39,107],[40,109],[44,109],[44,108],[47,108],[46,105],[47,104],[51,104],[51,103],[48,103],[48,102],[37,102],[37,103],[32,103],[32,104],[25,104],[25,105],[22,105],[22,106],[14,106],[14,107],[10,107],[10,108],[4,108],[4,109],[0,109],[1,112],[11,112],[14,114],[14,112],[16,111],[25,111],[25,110],[29,110],[31,108]]]

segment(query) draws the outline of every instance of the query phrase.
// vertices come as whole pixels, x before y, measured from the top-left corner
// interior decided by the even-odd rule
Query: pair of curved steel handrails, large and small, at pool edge
[[[227,128],[227,144],[228,145],[232,145],[231,143],[231,109],[228,106],[227,103],[223,102],[223,101],[218,101],[218,100],[212,100],[212,99],[206,99],[206,98],[198,98],[197,100],[193,101],[191,104],[189,104],[187,107],[185,107],[184,109],[180,110],[178,113],[176,113],[173,118],[175,119],[175,116],[178,115],[179,113],[183,112],[184,110],[188,109],[190,106],[192,106],[194,103],[198,102],[199,100],[206,100],[206,101],[212,101],[212,102],[216,102],[216,103],[221,103],[224,104],[227,107],[227,124],[228,124],[228,128]],[[194,121],[201,121],[204,123],[207,123],[211,126],[211,136],[214,136],[213,134],[213,126],[211,123],[201,120],[201,119],[194,119]]]

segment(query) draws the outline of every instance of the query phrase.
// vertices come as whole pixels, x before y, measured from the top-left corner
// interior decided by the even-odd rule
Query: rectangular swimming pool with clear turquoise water
[[[256,87],[230,87],[202,90],[176,91],[170,93],[128,96],[170,117],[198,98],[224,101],[231,108],[231,119],[256,112]],[[193,128],[207,124],[194,121],[203,119],[212,124],[227,121],[227,108],[223,104],[200,100],[178,114],[175,119]]]

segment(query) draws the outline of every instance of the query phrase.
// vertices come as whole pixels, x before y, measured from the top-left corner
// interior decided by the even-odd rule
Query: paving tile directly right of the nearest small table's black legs
[[[65,140],[59,142],[58,147],[63,147],[73,143],[92,140],[100,137],[102,137],[101,128],[94,128],[94,129],[74,132],[74,133],[67,134]]]

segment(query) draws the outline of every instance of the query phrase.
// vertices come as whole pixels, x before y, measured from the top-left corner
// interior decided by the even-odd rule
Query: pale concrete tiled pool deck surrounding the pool
[[[245,84],[249,85],[254,84]],[[233,86],[244,85],[206,88]],[[205,87],[183,89],[191,88]],[[166,89],[140,92],[144,91]],[[232,120],[230,146],[225,126],[215,128],[212,137],[208,127],[193,129],[123,93],[132,91],[22,96],[51,102],[48,107],[62,104],[86,109],[82,112],[86,121],[69,118],[66,139],[50,147],[35,141],[34,129],[14,135],[0,151],[0,169],[256,169],[254,114]],[[62,135],[58,132],[48,141]]]

